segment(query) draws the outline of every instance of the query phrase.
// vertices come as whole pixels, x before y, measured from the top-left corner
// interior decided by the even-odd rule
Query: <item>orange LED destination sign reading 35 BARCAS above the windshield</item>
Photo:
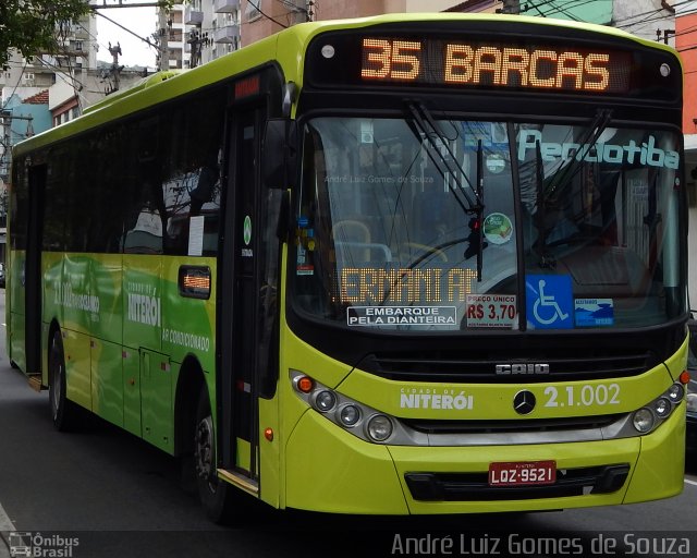
[[[364,38],[364,82],[621,93],[628,54],[444,40]]]

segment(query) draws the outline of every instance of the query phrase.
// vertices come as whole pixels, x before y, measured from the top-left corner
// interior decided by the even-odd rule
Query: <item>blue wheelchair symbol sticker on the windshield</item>
[[[528,275],[527,320],[536,329],[574,327],[574,300],[567,275]]]

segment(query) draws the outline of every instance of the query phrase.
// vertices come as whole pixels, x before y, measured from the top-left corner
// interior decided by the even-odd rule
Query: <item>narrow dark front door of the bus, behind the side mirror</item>
[[[220,305],[222,427],[219,448],[229,477],[258,492],[259,292],[264,277],[259,234],[259,142],[264,110],[243,110],[230,119],[227,239]],[[232,441],[232,442],[231,442]]]

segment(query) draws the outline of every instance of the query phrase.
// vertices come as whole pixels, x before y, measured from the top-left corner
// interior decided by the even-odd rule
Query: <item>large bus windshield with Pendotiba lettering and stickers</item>
[[[678,136],[601,117],[307,121],[294,307],[404,331],[681,315]]]

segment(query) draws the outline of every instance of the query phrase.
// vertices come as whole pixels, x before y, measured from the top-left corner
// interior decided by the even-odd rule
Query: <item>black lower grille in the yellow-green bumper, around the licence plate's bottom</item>
[[[557,472],[550,485],[490,486],[488,473],[406,473],[412,498],[420,501],[482,501],[561,498],[619,490],[629,474],[627,463]]]

